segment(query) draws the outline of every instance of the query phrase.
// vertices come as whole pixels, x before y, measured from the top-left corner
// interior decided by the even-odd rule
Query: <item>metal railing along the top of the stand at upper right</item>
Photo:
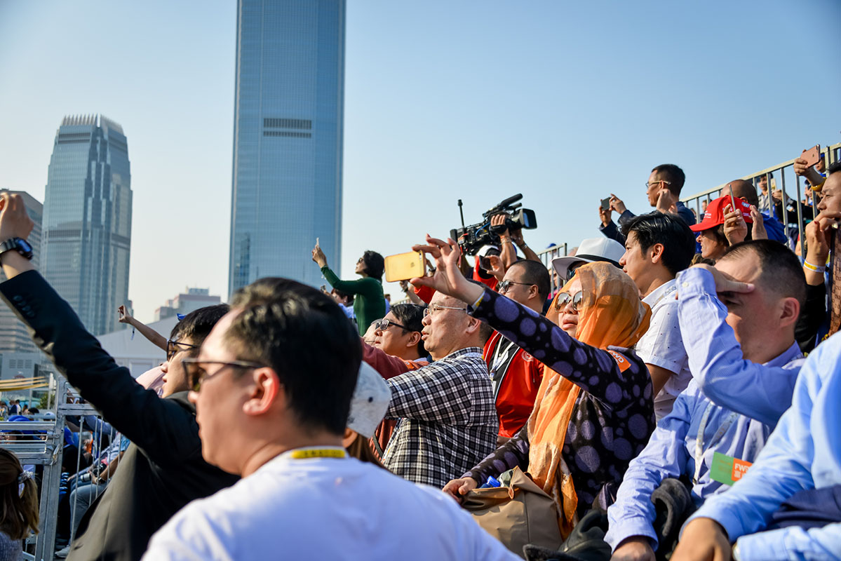
[[[825,158],[827,167],[829,167],[830,164],[833,164],[834,162],[838,161],[839,157],[841,157],[841,143],[834,144],[833,146],[824,147],[822,149],[822,154]],[[771,187],[772,178],[775,178],[774,174],[776,173],[777,176],[780,177],[780,191],[782,192],[782,197],[781,197],[781,199],[782,199],[782,204],[781,204],[782,216],[778,216],[777,218],[782,219],[782,224],[783,224],[783,228],[785,230],[785,235],[793,238],[794,243],[799,241],[801,256],[805,256],[806,255],[806,236],[804,236],[803,229],[806,227],[806,224],[805,224],[805,221],[803,220],[802,206],[801,206],[801,202],[802,202],[801,201],[801,183],[800,183],[800,176],[797,176],[797,175],[794,174],[793,166],[794,166],[794,159],[789,160],[789,161],[784,161],[780,164],[777,164],[776,166],[766,167],[764,170],[759,170],[759,172],[751,173],[749,175],[739,177],[739,178],[744,179],[745,181],[750,181],[751,183],[754,184],[754,188],[756,188],[757,187],[757,182],[759,181],[759,177],[767,176],[768,177],[768,193],[769,193],[769,196],[770,196],[770,193],[772,191],[772,187]],[[792,169],[787,171],[787,168],[790,168],[790,167],[792,167]],[[795,190],[796,190],[795,208],[796,208],[796,214],[797,214],[797,220],[796,220],[795,228],[792,228],[791,231],[790,231],[790,224],[795,224],[793,221],[789,220],[789,210],[788,210],[788,204],[787,204],[788,200],[789,200],[788,193],[791,193],[791,188],[789,188],[788,192],[786,192],[786,190],[785,190],[785,176],[788,175],[789,173],[791,173],[791,175],[794,176],[794,178],[795,178],[795,182],[794,182],[795,183]],[[688,208],[695,209],[698,220],[701,220],[703,218],[703,215],[704,215],[704,213],[701,211],[701,201],[706,200],[706,202],[709,203],[713,198],[720,197],[721,192],[722,192],[722,188],[724,188],[725,186],[727,186],[727,183],[722,183],[721,185],[719,185],[717,187],[707,189],[706,191],[701,191],[701,193],[696,193],[696,194],[690,195],[689,197],[686,197],[686,198],[681,198],[680,200]],[[805,189],[809,189],[808,184],[805,186]],[[805,193],[805,190],[804,190],[804,193]],[[771,204],[772,204],[772,209],[773,209],[773,202]],[[794,236],[795,230],[796,230],[796,236]],[[796,247],[794,245],[792,245],[792,249],[796,249]]]

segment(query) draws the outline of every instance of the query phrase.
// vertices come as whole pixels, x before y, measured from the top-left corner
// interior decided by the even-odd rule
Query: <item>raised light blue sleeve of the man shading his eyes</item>
[[[698,387],[716,405],[775,426],[791,405],[802,359],[773,368],[745,360],[712,273],[690,267],[677,280],[680,331]]]

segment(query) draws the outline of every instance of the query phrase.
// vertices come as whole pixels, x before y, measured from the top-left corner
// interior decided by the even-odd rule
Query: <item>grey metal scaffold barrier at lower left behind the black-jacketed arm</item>
[[[49,411],[41,411],[34,415],[35,421],[0,421],[0,431],[8,435],[11,431],[29,434],[15,434],[13,440],[8,437],[0,442],[0,446],[13,452],[24,466],[43,466],[43,474],[36,481],[40,489],[40,524],[39,533],[30,535],[24,541],[24,558],[39,561],[50,561],[56,551],[56,529],[58,521],[59,501],[62,491],[70,493],[69,489],[62,490],[61,474],[64,460],[65,437],[64,428],[68,415],[94,415],[101,420],[93,405],[78,403],[78,393],[67,384],[61,375],[50,379],[50,394],[56,395],[55,405]],[[70,403],[68,403],[70,401]],[[74,403],[75,402],[75,403]],[[50,403],[48,399],[47,403]],[[52,418],[50,418],[50,416]],[[76,458],[77,471],[82,460],[83,431],[80,427],[79,446]],[[103,431],[98,431],[99,453],[102,451]],[[75,505],[71,507],[71,534],[75,519]],[[71,535],[72,538],[72,535]]]

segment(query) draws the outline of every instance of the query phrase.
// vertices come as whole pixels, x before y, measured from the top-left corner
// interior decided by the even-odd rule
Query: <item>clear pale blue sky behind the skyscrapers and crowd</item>
[[[187,285],[227,292],[235,16],[0,3],[0,187],[43,200],[63,115],[122,124],[140,320]],[[838,21],[837,0],[349,0],[341,270],[446,234],[458,198],[471,223],[523,193],[526,241],[574,246],[608,193],[647,209],[657,164],[695,193],[838,142]]]

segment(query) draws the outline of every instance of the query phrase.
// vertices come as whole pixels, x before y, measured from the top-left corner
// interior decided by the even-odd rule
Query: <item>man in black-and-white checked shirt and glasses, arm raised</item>
[[[494,392],[482,358],[493,330],[466,310],[452,297],[432,297],[421,330],[434,361],[428,366],[407,372],[402,361],[370,360],[370,348],[365,352],[391,389],[385,418],[399,419],[383,465],[438,489],[496,448]]]

